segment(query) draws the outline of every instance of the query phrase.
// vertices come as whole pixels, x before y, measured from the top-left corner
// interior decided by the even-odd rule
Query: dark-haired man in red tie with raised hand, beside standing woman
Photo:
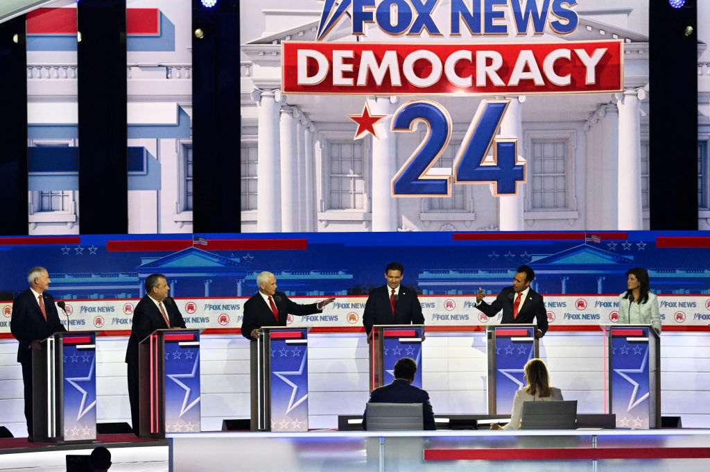
[[[530,282],[535,279],[535,271],[526,265],[518,267],[513,278],[513,286],[506,286],[501,290],[492,304],[484,301],[483,289],[479,287],[476,294],[476,308],[483,311],[486,316],[493,317],[498,311],[503,310],[501,323],[532,324],[537,320],[535,338],[542,338],[547,332],[547,310],[542,301],[542,295],[530,288]]]

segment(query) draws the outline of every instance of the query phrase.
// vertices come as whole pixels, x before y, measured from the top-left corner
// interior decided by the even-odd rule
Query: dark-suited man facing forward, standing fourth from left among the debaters
[[[424,324],[417,292],[400,284],[403,277],[402,264],[390,262],[385,268],[387,284],[370,291],[362,317],[368,339],[373,325]]]

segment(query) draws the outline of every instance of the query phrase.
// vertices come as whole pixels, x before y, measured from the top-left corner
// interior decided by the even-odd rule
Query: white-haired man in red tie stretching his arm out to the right
[[[288,315],[312,315],[320,313],[323,307],[335,297],[317,304],[299,305],[288,299],[283,291],[276,291],[276,277],[271,272],[261,272],[256,276],[259,291],[244,304],[244,320],[241,322],[241,334],[249,340],[259,338],[261,326],[286,326]]]

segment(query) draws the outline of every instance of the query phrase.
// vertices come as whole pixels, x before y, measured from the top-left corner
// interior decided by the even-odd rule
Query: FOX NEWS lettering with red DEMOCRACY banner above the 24
[[[579,23],[576,1],[485,0],[449,4],[449,36],[572,33]],[[505,6],[505,9],[498,9]],[[442,36],[432,18],[438,1],[334,0],[324,2],[317,42],[283,43],[283,90],[295,94],[516,95],[621,92],[621,41],[528,43],[322,43],[340,21],[364,37],[373,23],[389,35]],[[443,7],[443,6],[440,6]],[[512,18],[507,18],[508,15]]]

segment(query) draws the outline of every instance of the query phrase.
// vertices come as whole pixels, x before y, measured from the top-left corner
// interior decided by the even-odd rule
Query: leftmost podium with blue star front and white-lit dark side
[[[96,333],[54,333],[32,351],[35,442],[96,439]]]

